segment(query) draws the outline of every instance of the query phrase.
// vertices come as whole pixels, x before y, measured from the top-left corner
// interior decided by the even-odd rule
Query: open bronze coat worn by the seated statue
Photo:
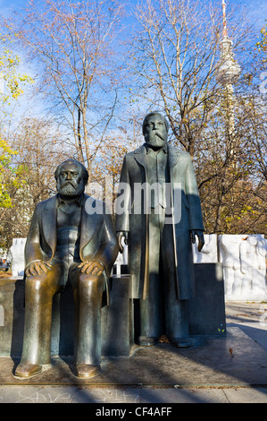
[[[83,194],[79,257],[81,262],[95,259],[104,263],[108,294],[108,277],[119,252],[119,245],[111,216],[104,211],[104,202],[96,201],[97,209],[103,209],[102,213],[90,214],[87,211],[94,207],[94,201],[92,197]],[[39,202],[34,211],[25,245],[26,268],[30,262],[37,260],[53,261],[56,247],[56,206],[57,196],[54,196]]]

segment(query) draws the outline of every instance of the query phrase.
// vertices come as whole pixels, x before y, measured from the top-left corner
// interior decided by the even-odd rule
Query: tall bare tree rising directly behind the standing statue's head
[[[221,65],[221,9],[212,2],[146,0],[136,15],[140,30],[132,58],[138,94],[150,108],[163,109],[174,140],[193,157],[221,95],[216,78]],[[238,25],[232,30],[238,47]]]

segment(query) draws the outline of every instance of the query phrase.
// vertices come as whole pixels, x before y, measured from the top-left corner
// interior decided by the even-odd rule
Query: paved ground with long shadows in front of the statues
[[[95,412],[108,404],[267,403],[267,303],[228,302],[226,322],[226,336],[195,337],[192,348],[165,341],[103,358],[91,380],[74,375],[70,358],[54,357],[21,381],[13,376],[19,361],[0,357],[0,403],[95,403]]]

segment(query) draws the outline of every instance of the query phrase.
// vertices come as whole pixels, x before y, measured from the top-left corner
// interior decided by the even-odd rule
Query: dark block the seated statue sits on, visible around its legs
[[[102,355],[129,356],[132,338],[132,301],[129,275],[113,276],[110,305],[102,308]],[[24,281],[22,277],[0,280],[0,356],[20,357],[24,330]],[[54,296],[51,335],[52,356],[72,356],[74,302],[71,287]]]

